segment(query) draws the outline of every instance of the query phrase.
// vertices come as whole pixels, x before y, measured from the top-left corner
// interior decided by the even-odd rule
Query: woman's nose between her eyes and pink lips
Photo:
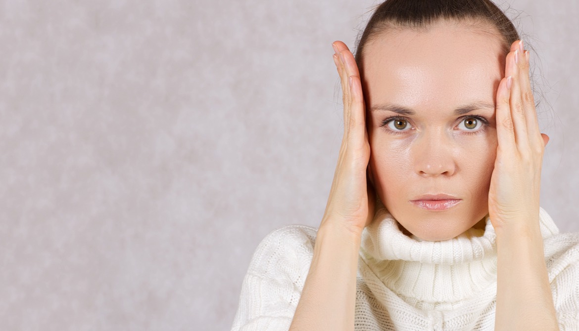
[[[452,176],[456,171],[452,142],[444,133],[424,134],[413,142],[415,172],[422,177]]]

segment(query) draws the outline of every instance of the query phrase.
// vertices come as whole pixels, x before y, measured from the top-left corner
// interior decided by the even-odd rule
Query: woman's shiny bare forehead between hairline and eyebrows
[[[363,61],[368,106],[390,102],[417,110],[493,102],[505,64],[497,35],[456,24],[379,35],[366,44]]]

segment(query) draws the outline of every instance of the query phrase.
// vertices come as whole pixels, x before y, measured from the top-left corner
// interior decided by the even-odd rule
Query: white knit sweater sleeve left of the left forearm
[[[290,329],[316,233],[309,226],[288,225],[259,243],[241,285],[232,331]]]

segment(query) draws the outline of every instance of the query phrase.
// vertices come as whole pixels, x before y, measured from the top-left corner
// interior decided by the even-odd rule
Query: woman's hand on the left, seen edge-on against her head
[[[354,55],[345,43],[336,41],[334,62],[342,81],[344,136],[334,172],[334,181],[321,226],[345,226],[361,234],[372,222],[376,194],[368,180],[370,144],[365,121],[364,95]]]

